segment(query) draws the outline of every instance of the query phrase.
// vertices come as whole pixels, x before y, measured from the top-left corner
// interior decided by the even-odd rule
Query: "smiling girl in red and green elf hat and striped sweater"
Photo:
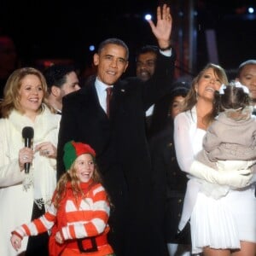
[[[107,238],[110,201],[95,158],[88,144],[65,144],[66,172],[57,183],[51,205],[43,216],[12,231],[10,241],[16,251],[23,237],[51,230],[49,255],[113,255]]]

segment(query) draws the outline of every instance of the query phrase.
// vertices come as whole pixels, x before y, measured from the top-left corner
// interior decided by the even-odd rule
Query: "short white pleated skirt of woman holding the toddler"
[[[203,247],[240,248],[240,241],[256,242],[255,185],[244,190],[230,190],[214,199],[198,192],[190,225],[192,253]]]

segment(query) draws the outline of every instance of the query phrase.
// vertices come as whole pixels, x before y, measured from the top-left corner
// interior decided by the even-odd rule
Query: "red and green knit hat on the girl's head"
[[[70,169],[73,162],[81,154],[91,154],[94,158],[96,153],[90,145],[85,143],[75,143],[74,141],[67,142],[64,146],[63,161],[66,171]]]

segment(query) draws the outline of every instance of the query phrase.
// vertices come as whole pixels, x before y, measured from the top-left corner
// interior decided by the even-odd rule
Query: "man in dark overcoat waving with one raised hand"
[[[73,139],[90,144],[102,172],[113,209],[109,241],[117,256],[165,255],[151,215],[151,165],[144,113],[163,96],[173,77],[170,46],[172,16],[164,4],[157,9],[157,24],[148,20],[160,47],[152,79],[120,80],[128,67],[129,50],[118,38],[108,38],[94,55],[96,79],[63,98],[57,153],[57,176],[64,172],[63,145]],[[109,118],[106,89],[113,87]]]

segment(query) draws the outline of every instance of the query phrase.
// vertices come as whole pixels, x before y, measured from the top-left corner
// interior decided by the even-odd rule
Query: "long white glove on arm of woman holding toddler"
[[[192,163],[189,174],[204,179],[209,183],[228,185],[236,189],[247,187],[253,177],[250,169],[218,172],[197,160]]]

